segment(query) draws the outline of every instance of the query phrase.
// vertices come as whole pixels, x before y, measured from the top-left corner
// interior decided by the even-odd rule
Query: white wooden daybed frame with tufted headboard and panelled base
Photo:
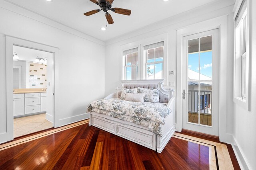
[[[136,125],[128,121],[123,121],[104,114],[90,112],[89,125],[98,127],[129,141],[138,143],[152,150],[161,153],[168,141],[171,139],[175,130],[175,98],[173,97],[173,89],[164,89],[163,80],[134,80],[122,81],[122,88],[116,88],[116,93],[108,95],[105,99],[120,98],[123,88],[158,88],[160,90],[159,102],[168,103],[167,107],[171,109],[171,113],[165,118],[165,124],[160,125],[162,129],[162,137],[157,136],[148,128]]]

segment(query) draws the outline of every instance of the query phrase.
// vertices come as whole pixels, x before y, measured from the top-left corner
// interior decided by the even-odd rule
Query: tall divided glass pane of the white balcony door
[[[188,41],[188,122],[212,126],[212,36]]]

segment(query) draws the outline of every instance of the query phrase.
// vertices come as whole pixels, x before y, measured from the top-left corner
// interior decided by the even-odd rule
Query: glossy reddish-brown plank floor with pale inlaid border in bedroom
[[[87,121],[0,145],[0,169],[233,169],[226,145],[175,133],[161,154]]]

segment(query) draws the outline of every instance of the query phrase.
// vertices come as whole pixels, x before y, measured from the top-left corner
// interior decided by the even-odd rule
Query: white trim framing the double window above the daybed
[[[144,64],[144,46],[151,45],[154,43],[162,42],[164,41],[164,61],[163,61],[163,79],[164,79],[164,86],[167,86],[168,82],[168,71],[167,71],[167,45],[168,45],[168,33],[163,33],[160,35],[156,35],[154,37],[145,38],[140,41],[132,41],[130,43],[124,44],[120,46],[120,53],[122,56],[122,65],[120,66],[121,70],[121,76],[120,80],[126,80],[125,74],[124,74],[124,55],[123,51],[138,48],[138,72],[137,72],[137,80],[146,80],[145,78],[145,64]],[[121,62],[120,62],[121,63]],[[133,81],[133,80],[127,80],[127,81]]]

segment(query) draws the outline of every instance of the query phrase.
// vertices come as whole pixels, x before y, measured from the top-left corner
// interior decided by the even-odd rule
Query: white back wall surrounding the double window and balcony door
[[[167,35],[167,53],[168,53],[168,70],[175,70],[177,73],[177,29],[192,25],[194,23],[199,23],[201,21],[210,20],[212,18],[217,18],[220,16],[227,16],[227,89],[226,94],[228,111],[226,113],[226,133],[233,133],[233,102],[232,102],[232,80],[233,80],[233,9],[234,2],[232,0],[218,1],[206,6],[201,6],[197,9],[190,10],[189,12],[182,13],[180,15],[168,18],[158,23],[148,25],[143,29],[138,29],[137,31],[128,33],[121,37],[117,37],[106,42],[105,47],[105,95],[115,92],[117,86],[120,87],[121,82],[121,68],[122,68],[122,56],[120,55],[120,46],[134,41],[140,41],[149,37],[157,36],[163,33]],[[230,43],[231,42],[231,43]],[[167,82],[174,81],[177,82],[177,76],[167,76]],[[174,87],[177,89],[175,83]],[[174,94],[175,95],[175,94]],[[176,107],[177,108],[177,107]],[[182,114],[182,113],[176,113]],[[220,129],[222,130],[222,129]],[[227,142],[227,141],[226,141]]]

